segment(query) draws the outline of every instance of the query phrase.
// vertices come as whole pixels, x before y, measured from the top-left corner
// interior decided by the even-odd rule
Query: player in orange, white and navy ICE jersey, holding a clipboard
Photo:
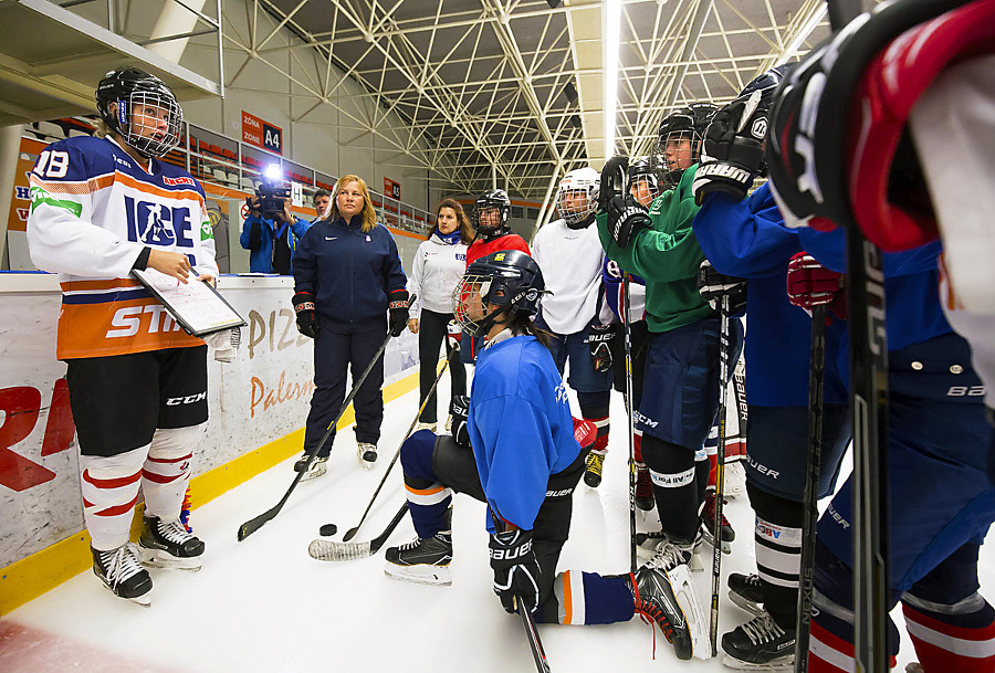
[[[218,273],[203,188],[157,160],[182,111],[134,67],[96,91],[104,137],[46,147],[31,171],[28,244],[62,286],[56,357],[66,362],[93,570],[122,598],[150,602],[142,564],[197,570],[203,543],[179,520],[208,418],[207,346],[182,332],[132,270],[188,282]],[[145,522],[128,541],[139,486]]]

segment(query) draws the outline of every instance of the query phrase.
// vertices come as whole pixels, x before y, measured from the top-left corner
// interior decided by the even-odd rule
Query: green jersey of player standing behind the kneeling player
[[[691,183],[695,164],[684,171],[675,189],[650,204],[650,229],[636,234],[625,249],[608,233],[608,215],[598,214],[598,235],[609,260],[646,280],[647,325],[650,332],[669,332],[715,311],[698,293],[698,267],[704,254],[691,231],[698,213]]]

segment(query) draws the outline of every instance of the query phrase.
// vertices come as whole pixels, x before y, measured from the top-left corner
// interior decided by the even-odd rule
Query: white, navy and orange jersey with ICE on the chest
[[[59,359],[200,346],[130,275],[145,248],[180,252],[218,274],[203,188],[181,168],[150,172],[114,140],[53,143],[30,175],[31,260],[60,274]]]

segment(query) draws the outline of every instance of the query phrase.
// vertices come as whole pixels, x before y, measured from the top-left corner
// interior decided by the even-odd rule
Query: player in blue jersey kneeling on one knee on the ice
[[[470,265],[453,293],[464,334],[485,336],[467,411],[453,434],[416,432],[401,446],[408,508],[418,538],[387,549],[390,577],[449,585],[452,492],[485,502],[494,592],[509,612],[537,622],[603,624],[640,614],[659,624],[679,659],[693,642],[687,590],[675,595],[658,559],[636,574],[556,572],[570,527],[572,494],[594,428],[570,417],[566,388],[535,328],[543,275],[528,255],[496,252]],[[575,423],[577,430],[575,431]],[[580,437],[580,446],[575,434]],[[682,585],[687,587],[685,585]],[[696,614],[703,621],[700,606]],[[698,646],[695,646],[698,645]]]

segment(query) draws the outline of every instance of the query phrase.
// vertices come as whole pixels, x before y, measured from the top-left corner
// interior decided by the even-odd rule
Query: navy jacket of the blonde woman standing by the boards
[[[387,315],[391,292],[408,283],[390,232],[377,224],[359,229],[359,217],[311,225],[294,254],[294,291],[314,295],[331,320],[359,323]]]

